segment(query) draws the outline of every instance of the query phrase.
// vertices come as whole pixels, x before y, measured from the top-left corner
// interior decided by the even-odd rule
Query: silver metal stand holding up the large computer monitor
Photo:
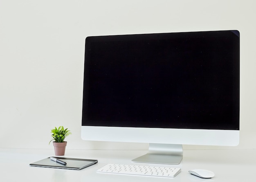
[[[182,156],[182,145],[150,143],[148,153],[133,159],[132,162],[180,164]]]

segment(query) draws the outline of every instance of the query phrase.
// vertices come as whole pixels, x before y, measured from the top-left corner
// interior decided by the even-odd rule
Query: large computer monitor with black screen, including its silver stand
[[[239,32],[85,40],[83,140],[149,143],[133,162],[179,164],[182,145],[239,143]]]

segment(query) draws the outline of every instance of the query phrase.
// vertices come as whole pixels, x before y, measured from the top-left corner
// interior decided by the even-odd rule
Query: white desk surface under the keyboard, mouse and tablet
[[[66,150],[65,157],[96,159],[99,162],[81,170],[31,167],[30,163],[54,156],[49,149],[1,149],[1,182],[241,182],[256,180],[256,150],[184,150],[179,165],[132,163],[130,160],[147,151],[124,150]],[[182,172],[175,178],[97,173],[108,163],[175,166]],[[215,173],[202,179],[188,173],[189,169],[208,169]]]

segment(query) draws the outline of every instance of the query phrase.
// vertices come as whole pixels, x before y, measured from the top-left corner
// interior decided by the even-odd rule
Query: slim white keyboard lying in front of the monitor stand
[[[171,167],[154,167],[154,166],[135,166],[124,164],[107,164],[101,167],[97,172],[103,173],[119,173],[119,174],[132,174],[132,175],[150,175],[150,176],[163,176],[175,177],[180,173],[180,168]]]

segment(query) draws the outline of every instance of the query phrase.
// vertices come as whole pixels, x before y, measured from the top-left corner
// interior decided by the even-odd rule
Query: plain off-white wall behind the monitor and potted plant
[[[85,37],[237,29],[236,148],[256,148],[255,7],[255,0],[0,0],[0,147],[51,149],[50,130],[64,125],[73,133],[68,149],[146,149],[81,140]]]

